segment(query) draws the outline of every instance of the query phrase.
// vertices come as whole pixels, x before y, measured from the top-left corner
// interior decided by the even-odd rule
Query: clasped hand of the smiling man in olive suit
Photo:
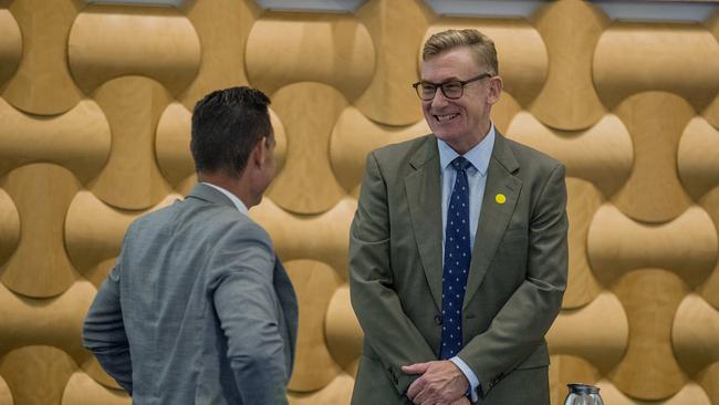
[[[417,405],[452,404],[457,399],[461,401],[469,387],[461,370],[448,360],[405,365],[402,371],[406,374],[423,374],[407,390],[407,397]]]

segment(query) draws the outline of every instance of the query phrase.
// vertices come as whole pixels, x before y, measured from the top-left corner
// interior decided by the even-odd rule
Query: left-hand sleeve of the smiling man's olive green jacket
[[[389,249],[387,188],[371,154],[350,230],[350,292],[365,344],[377,353],[387,378],[404,395],[418,376],[406,375],[400,367],[437,357],[405,314],[393,289]]]

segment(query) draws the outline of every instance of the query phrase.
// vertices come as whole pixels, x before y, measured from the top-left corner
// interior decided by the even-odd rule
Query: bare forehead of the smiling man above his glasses
[[[467,46],[458,46],[421,62],[421,80],[440,83],[450,79],[466,80],[481,73]]]

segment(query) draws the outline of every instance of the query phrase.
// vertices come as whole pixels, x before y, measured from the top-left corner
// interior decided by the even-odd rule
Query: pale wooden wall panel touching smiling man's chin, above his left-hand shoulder
[[[362,183],[365,158],[369,152],[430,132],[425,120],[404,127],[382,125],[369,121],[359,110],[350,106],[342,112],[332,129],[332,168],[345,191],[352,193]]]

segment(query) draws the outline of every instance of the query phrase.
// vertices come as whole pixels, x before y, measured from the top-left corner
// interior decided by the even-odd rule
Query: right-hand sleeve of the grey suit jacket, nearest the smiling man
[[[286,404],[289,371],[272,283],[269,237],[252,225],[233,227],[213,249],[212,301],[243,404]]]

